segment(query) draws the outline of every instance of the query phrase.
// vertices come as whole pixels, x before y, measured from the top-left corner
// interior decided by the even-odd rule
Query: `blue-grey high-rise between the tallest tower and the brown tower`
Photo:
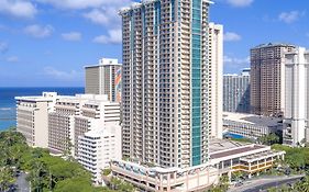
[[[223,111],[250,113],[250,69],[223,76]]]

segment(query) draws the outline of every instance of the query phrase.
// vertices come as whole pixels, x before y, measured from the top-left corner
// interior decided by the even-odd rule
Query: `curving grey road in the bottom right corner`
[[[280,187],[285,183],[295,183],[301,178],[304,178],[304,176],[260,178],[256,180],[246,181],[243,185],[232,188],[228,192],[260,192],[272,187]]]

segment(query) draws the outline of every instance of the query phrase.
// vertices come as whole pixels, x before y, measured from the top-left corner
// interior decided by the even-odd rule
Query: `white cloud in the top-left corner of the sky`
[[[31,19],[37,13],[33,3],[23,0],[0,0],[0,13],[14,16]]]

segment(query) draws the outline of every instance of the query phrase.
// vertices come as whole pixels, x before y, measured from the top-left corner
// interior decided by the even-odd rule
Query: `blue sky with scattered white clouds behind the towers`
[[[82,87],[84,66],[121,61],[118,10],[139,0],[0,0],[0,87]],[[214,0],[224,74],[250,66],[263,43],[309,47],[308,0]]]

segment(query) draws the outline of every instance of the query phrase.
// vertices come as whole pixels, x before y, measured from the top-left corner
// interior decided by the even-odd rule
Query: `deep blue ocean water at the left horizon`
[[[42,92],[58,92],[62,95],[84,93],[84,88],[0,88],[0,131],[16,125],[15,97],[41,95]]]

